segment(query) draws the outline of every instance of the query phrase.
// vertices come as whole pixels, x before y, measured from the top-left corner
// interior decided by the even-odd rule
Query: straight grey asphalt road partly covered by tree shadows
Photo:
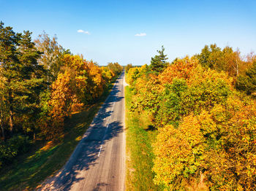
[[[124,190],[124,73],[64,168],[39,190]]]

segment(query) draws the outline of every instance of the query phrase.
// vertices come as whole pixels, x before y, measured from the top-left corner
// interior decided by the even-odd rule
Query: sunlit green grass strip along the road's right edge
[[[127,129],[127,176],[126,190],[162,190],[154,184],[151,171],[154,155],[151,144],[157,136],[156,130],[148,128],[146,114],[130,114],[132,94],[125,87],[126,129]]]

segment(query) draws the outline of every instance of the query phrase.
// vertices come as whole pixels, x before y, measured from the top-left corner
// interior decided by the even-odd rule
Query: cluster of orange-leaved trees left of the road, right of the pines
[[[63,133],[64,118],[80,112],[85,104],[103,93],[105,80],[102,70],[92,61],[79,55],[64,55],[64,67],[51,85],[48,125],[43,131],[50,139],[58,139]]]

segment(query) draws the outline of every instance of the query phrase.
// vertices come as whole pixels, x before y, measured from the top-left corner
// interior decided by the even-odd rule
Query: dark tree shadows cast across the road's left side
[[[105,104],[102,105],[97,116],[94,117],[94,121],[91,123],[92,127],[89,129],[90,132],[87,132],[88,135],[80,141],[78,147],[59,174],[53,177],[44,188],[39,190],[70,190],[72,184],[87,178],[83,177],[80,173],[89,170],[91,166],[96,164],[101,145],[118,136],[123,131],[120,122],[111,122],[107,128],[108,122],[105,121],[113,113],[108,111],[111,110],[110,108],[113,106],[113,103],[124,98],[118,96],[119,91],[117,86],[113,87]],[[104,140],[102,141],[102,139]],[[107,185],[105,182],[98,183],[94,190],[100,190],[100,187]]]

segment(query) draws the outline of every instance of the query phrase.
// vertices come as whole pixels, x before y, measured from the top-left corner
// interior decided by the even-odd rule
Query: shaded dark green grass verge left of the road
[[[116,80],[113,80],[115,82]],[[55,174],[67,162],[83,134],[108,97],[113,83],[97,103],[83,112],[73,114],[65,122],[64,140],[59,144],[37,141],[30,152],[20,155],[14,163],[0,171],[0,190],[34,190],[48,176]]]

